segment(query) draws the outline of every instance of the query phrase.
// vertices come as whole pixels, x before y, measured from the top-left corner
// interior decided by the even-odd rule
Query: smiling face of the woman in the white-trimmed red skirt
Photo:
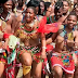
[[[69,15],[67,18],[68,28],[73,29],[76,24],[77,24],[77,17],[75,15]]]

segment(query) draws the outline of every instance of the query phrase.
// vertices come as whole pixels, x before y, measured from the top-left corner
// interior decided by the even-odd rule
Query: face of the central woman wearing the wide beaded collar
[[[31,23],[31,22],[34,21],[35,15],[36,15],[36,14],[35,14],[34,9],[28,8],[28,9],[26,10],[26,22],[27,22],[27,23]]]

